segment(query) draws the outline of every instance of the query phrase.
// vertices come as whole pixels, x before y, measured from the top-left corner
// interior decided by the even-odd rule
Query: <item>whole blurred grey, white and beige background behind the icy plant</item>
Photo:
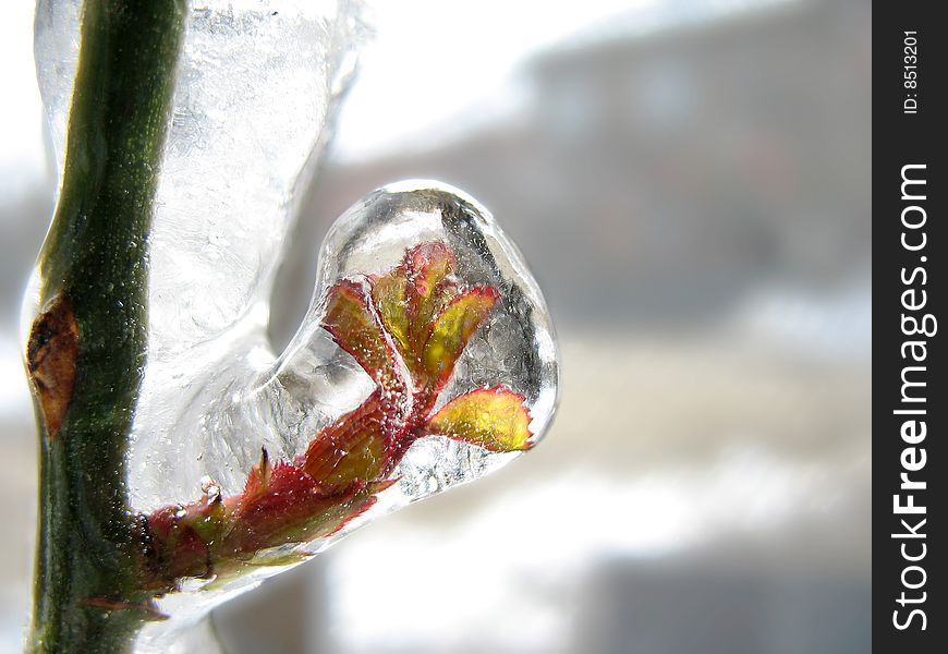
[[[51,211],[32,2],[0,23],[0,652],[29,605],[22,290]],[[535,451],[216,616],[238,653],[871,650],[871,3],[370,5],[275,299],[369,190],[485,204],[544,289],[562,403]]]

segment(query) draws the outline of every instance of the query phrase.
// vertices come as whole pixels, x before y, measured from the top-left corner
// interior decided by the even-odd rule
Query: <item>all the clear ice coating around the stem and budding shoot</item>
[[[39,0],[36,60],[62,172],[81,0]],[[150,239],[149,343],[127,456],[133,509],[148,514],[202,493],[234,496],[265,449],[292,461],[355,410],[376,382],[325,328],[341,280],[377,279],[413,249],[443,244],[461,288],[499,300],[438,396],[502,386],[530,412],[530,444],[557,402],[557,350],[546,306],[516,247],[462,192],[412,181],[377,190],[332,227],[312,305],[281,353],[266,337],[269,296],[295,214],[326,141],[365,27],[352,2],[195,1],[173,100]],[[373,277],[375,276],[375,277]],[[411,395],[411,389],[405,390]],[[402,403],[408,398],[401,398]],[[181,579],[158,601],[170,620],[139,646],[313,554],[372,518],[506,464],[520,451],[430,436],[415,440],[368,510],[331,535],[278,548],[226,581]]]

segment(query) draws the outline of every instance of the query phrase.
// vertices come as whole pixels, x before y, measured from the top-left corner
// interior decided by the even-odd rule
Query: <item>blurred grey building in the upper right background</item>
[[[501,220],[560,319],[700,317],[762,283],[819,291],[863,274],[868,2],[682,12],[646,33],[636,17],[535,57],[528,100],[502,123],[327,168],[305,265],[365,190],[437,177]]]

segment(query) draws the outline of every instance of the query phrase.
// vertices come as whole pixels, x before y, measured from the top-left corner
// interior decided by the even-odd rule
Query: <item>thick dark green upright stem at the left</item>
[[[185,0],[86,0],[83,11],[62,192],[39,257],[45,315],[27,355],[41,432],[34,652],[127,651],[149,616],[150,597],[135,590],[124,460],[186,14]],[[72,355],[62,324],[73,326]],[[50,388],[68,388],[59,413]]]

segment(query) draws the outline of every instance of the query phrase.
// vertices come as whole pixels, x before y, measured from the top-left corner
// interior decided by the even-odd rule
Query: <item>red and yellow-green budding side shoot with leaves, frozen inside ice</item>
[[[464,288],[453,252],[425,243],[394,269],[343,279],[329,290],[323,328],[375,383],[354,410],[323,428],[292,461],[266,448],[243,493],[162,507],[141,522],[141,584],[156,593],[183,577],[226,579],[246,567],[280,565],[257,555],[338,532],[398,480],[418,438],[441,435],[495,451],[530,447],[525,398],[503,386],[477,388],[435,410],[454,365],[499,299]],[[292,556],[292,555],[291,555]]]

